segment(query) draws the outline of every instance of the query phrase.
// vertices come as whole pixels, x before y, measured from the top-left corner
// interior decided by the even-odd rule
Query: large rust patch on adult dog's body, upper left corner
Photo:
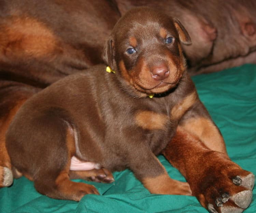
[[[51,29],[32,17],[14,16],[0,27],[0,52],[5,55],[42,57],[58,47]]]

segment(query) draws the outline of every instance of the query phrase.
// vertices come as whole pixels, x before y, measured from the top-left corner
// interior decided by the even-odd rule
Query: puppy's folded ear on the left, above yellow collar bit
[[[116,63],[114,59],[114,39],[110,38],[104,47],[102,52],[102,59],[106,65],[108,65],[112,70],[116,70]]]

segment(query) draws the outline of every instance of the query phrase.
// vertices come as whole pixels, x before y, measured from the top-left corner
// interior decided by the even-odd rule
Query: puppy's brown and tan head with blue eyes
[[[116,23],[103,60],[141,96],[167,92],[186,69],[181,44],[190,37],[176,18],[148,7],[130,10]]]

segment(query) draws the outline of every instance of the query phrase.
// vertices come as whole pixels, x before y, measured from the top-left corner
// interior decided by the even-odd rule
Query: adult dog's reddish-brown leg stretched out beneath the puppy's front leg
[[[209,208],[209,203],[212,203],[216,212],[241,212],[242,209],[232,199],[237,193],[252,189],[254,179],[252,186],[235,185],[230,180],[237,175],[245,178],[251,173],[232,162],[226,152],[209,149],[195,134],[178,126],[163,154],[184,175],[203,207]],[[222,140],[215,143],[221,144]],[[230,198],[222,203],[222,207],[217,207],[215,199],[223,193],[228,193]]]

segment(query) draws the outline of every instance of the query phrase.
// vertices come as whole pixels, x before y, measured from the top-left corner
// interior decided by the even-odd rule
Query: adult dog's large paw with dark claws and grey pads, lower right
[[[211,156],[211,166],[200,174],[200,183],[190,187],[205,208],[212,213],[240,213],[252,201],[255,176],[227,158]],[[205,156],[204,156],[205,157]],[[212,157],[212,158],[211,158]]]

